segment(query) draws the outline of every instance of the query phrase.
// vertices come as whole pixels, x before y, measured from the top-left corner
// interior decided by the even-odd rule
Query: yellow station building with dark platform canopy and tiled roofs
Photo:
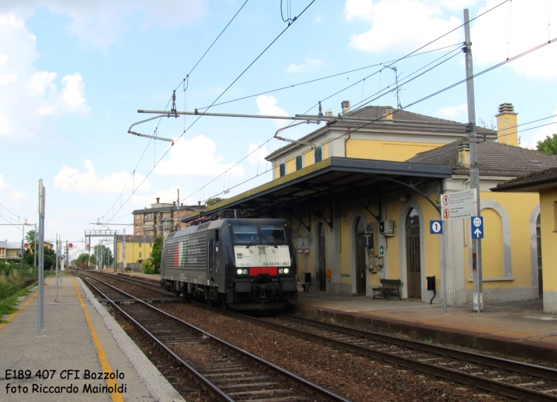
[[[446,222],[442,239],[429,229],[430,220],[441,219],[441,194],[470,188],[467,126],[392,107],[350,111],[345,101],[342,108],[352,120],[327,123],[276,150],[267,157],[272,181],[205,213],[240,208],[251,217],[287,219],[299,281],[310,273],[311,291],[372,296],[379,279],[400,279],[402,297],[430,302],[426,277],[434,276],[433,302],[442,303],[446,275],[448,304],[471,303],[470,222]],[[531,300],[540,296],[542,276],[538,194],[490,189],[557,167],[557,156],[519,148],[511,104],[501,105],[496,117],[497,131],[477,128],[483,302]]]

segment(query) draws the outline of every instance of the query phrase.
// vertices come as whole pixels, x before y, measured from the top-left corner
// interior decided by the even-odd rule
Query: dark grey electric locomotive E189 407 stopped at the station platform
[[[285,219],[215,219],[163,240],[161,286],[185,299],[201,297],[232,309],[280,309],[297,300],[296,271]]]

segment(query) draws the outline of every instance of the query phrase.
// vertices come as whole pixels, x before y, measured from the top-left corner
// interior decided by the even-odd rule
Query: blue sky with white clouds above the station
[[[321,101],[337,114],[343,100],[406,108],[466,77],[464,28],[456,29],[464,8],[480,15],[471,23],[474,72],[557,38],[551,0],[1,1],[0,239],[21,240],[22,226],[10,223],[38,222],[40,179],[45,238],[58,233],[73,255],[85,251],[85,230],[107,228],[94,222],[130,224],[108,227],[132,233],[132,211],[156,197],[172,202],[179,190],[192,205],[265,183],[264,158],[285,145],[272,139],[284,121],[187,116],[133,128],[173,146],[127,131],[155,116],[138,109],[168,109],[173,90],[179,111],[292,116],[317,114]],[[557,115],[556,61],[551,43],[476,77],[478,120],[492,127],[503,102],[519,124]],[[407,110],[466,123],[466,87]],[[519,130],[547,123],[557,117]],[[520,131],[520,145],[533,148],[556,127]]]

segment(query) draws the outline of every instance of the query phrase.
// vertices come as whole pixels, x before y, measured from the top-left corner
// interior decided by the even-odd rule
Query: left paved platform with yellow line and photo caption
[[[81,279],[63,277],[57,302],[45,282],[40,337],[36,289],[0,324],[1,401],[184,401]]]

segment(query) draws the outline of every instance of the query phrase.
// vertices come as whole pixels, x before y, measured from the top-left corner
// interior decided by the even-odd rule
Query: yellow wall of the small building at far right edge
[[[557,291],[557,187],[540,190],[544,291]]]

